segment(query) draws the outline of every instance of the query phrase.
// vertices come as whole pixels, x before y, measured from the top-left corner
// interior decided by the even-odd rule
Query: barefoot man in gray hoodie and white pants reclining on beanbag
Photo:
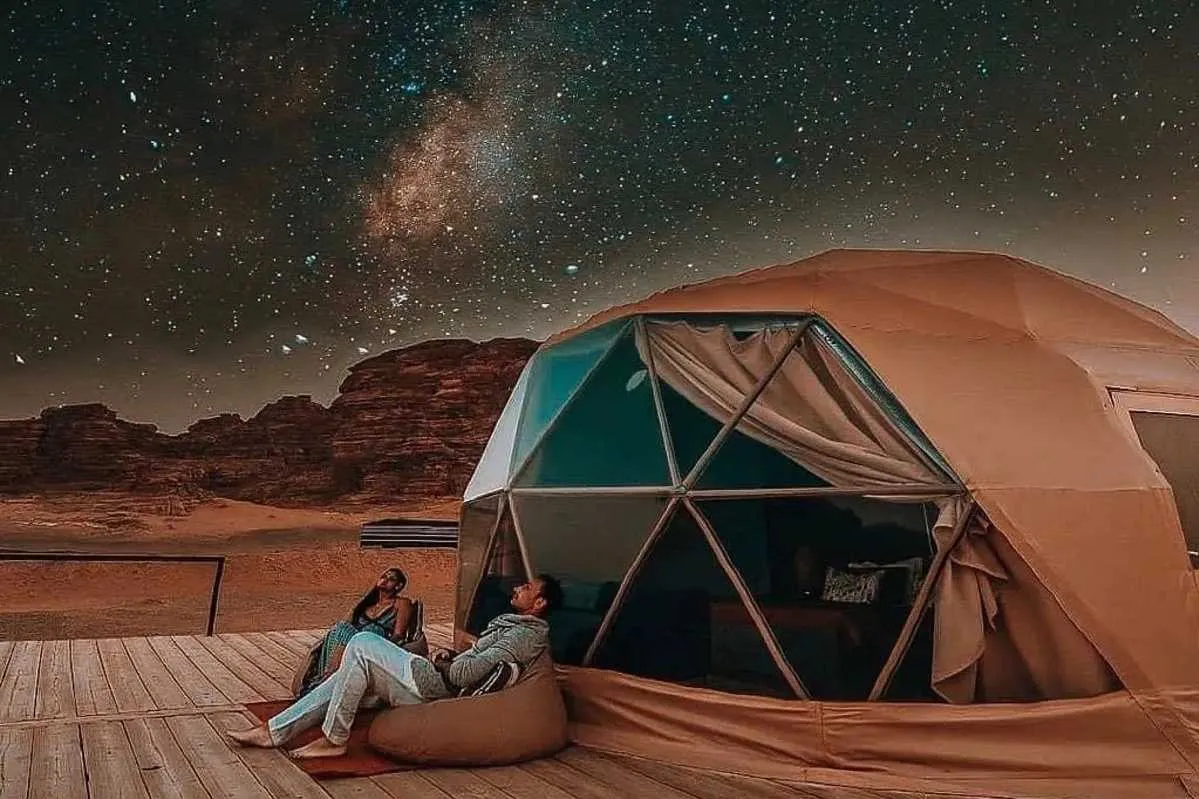
[[[282,746],[321,722],[323,738],[293,750],[297,758],[338,757],[367,696],[390,707],[444,699],[452,690],[474,686],[502,662],[531,663],[549,644],[546,617],[562,603],[562,587],[538,575],[512,591],[514,613],[502,613],[487,625],[462,654],[438,653],[433,660],[414,655],[373,632],[350,638],[342,665],[324,683],[289,708],[252,729],[230,732],[243,746]]]

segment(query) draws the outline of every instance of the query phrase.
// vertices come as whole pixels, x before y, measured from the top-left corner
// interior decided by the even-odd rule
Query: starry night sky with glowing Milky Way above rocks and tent
[[[1005,251],[1199,330],[1199,12],[1070,5],[11,0],[0,416],[327,401],[833,246]]]

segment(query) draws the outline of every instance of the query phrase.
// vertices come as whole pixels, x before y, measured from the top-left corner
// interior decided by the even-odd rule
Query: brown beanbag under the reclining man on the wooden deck
[[[507,765],[566,746],[566,705],[548,653],[510,689],[380,713],[367,743],[422,765]]]

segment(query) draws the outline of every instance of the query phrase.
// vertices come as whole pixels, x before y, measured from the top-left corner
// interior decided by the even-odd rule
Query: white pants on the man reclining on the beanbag
[[[344,744],[360,707],[381,701],[394,708],[442,698],[444,693],[421,696],[412,680],[412,660],[417,657],[374,632],[355,635],[336,672],[266,722],[271,740],[281,746],[324,719],[325,738]]]

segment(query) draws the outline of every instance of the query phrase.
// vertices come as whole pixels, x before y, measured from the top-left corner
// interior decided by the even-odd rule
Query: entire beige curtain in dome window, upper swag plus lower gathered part
[[[793,338],[793,330],[779,329],[739,341],[727,326],[667,322],[638,331],[637,344],[643,360],[652,354],[662,380],[727,423]],[[833,486],[944,483],[837,356],[809,337],[737,429]],[[968,507],[963,498],[939,503],[933,531],[939,551],[953,545]],[[1097,696],[1119,687],[1099,654],[978,511],[950,554],[934,597],[933,687],[948,702]]]

